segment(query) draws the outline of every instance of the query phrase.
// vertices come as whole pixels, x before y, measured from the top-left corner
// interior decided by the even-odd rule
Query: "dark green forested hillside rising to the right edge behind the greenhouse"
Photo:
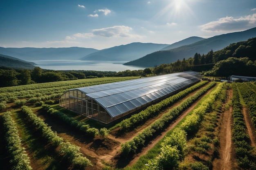
[[[229,75],[256,76],[256,38],[230,44],[222,50],[207,54],[195,53],[193,57],[177,60],[171,64],[161,64],[154,68],[155,74],[180,71],[199,71],[208,76],[227,77]]]

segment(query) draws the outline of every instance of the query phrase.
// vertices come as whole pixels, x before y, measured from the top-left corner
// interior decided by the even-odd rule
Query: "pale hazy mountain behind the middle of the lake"
[[[168,46],[168,44],[134,42],[91,53],[82,57],[81,60],[130,61],[159,51],[166,46]]]

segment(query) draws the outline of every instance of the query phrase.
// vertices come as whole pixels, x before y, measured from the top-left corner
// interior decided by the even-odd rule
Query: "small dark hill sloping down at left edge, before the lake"
[[[15,57],[0,54],[0,66],[22,69],[33,69],[33,62],[26,62]]]

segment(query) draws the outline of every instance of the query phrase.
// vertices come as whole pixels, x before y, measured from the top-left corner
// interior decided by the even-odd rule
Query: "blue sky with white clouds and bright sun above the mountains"
[[[1,47],[172,44],[256,27],[256,0],[1,0]]]

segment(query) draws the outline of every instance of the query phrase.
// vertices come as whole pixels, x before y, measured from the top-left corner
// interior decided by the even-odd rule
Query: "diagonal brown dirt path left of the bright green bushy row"
[[[204,95],[207,95],[208,93],[210,93],[212,91],[212,89],[210,89],[207,93],[205,93]],[[187,110],[185,110],[180,116],[178,116],[173,122],[171,122],[171,124],[168,126],[168,128],[166,128],[164,130],[164,132],[162,132],[161,134],[159,134],[155,139],[153,139],[152,141],[150,141],[150,143],[147,146],[144,146],[144,148],[141,150],[141,152],[139,152],[138,154],[136,154],[133,159],[126,165],[126,166],[132,166],[134,163],[136,163],[139,159],[139,157],[141,157],[142,155],[145,155],[148,150],[150,150],[151,148],[153,148],[155,146],[155,144],[157,144],[157,142],[159,142],[168,131],[170,131],[171,129],[173,129],[189,112],[191,112],[191,110],[193,110],[193,108],[198,104],[198,102],[200,102],[200,99],[202,97],[201,96],[196,102],[194,102]],[[115,160],[115,158],[111,159],[111,163],[113,163],[114,165],[117,163],[117,161]],[[121,168],[121,167],[118,167]]]

